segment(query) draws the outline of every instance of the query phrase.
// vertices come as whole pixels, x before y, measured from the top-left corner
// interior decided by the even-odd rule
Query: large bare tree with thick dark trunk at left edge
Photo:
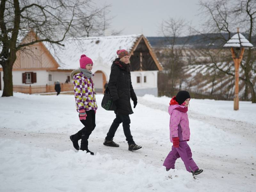
[[[64,46],[66,36],[79,35],[84,21],[93,23],[107,6],[96,8],[92,0],[1,0],[0,3],[0,64],[4,72],[2,96],[13,95],[12,66],[16,52],[38,42]],[[89,30],[90,27],[88,27]],[[28,32],[36,38],[22,42]],[[76,33],[77,34],[77,33]]]

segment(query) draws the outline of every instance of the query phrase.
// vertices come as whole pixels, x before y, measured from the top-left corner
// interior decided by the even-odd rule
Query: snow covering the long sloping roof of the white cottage
[[[112,61],[117,57],[116,51],[118,49],[126,49],[130,52],[136,43],[136,40],[140,36],[141,34],[86,37],[78,38],[76,40],[67,39],[66,41],[62,42],[62,44],[65,44],[65,47],[57,51],[58,58],[60,60],[60,67],[58,69],[79,68],[79,59],[82,54],[85,54],[87,57],[91,58],[93,65],[103,64],[111,66]],[[51,51],[51,49],[49,50]],[[99,63],[100,61],[103,62]]]

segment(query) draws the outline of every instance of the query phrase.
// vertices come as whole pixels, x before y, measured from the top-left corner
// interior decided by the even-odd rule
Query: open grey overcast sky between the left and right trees
[[[158,32],[163,19],[183,18],[199,27],[199,0],[95,0],[102,6],[111,4],[109,17],[111,30],[124,29],[121,35],[143,33],[144,36],[161,36]]]

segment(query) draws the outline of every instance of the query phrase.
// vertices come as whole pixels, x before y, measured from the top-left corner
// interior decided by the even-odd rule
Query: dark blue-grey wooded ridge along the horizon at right
[[[231,34],[233,36],[235,33]],[[246,38],[248,38],[247,34],[242,33]],[[228,34],[222,34],[226,39],[228,39]],[[207,40],[207,37],[217,37],[219,34],[203,34],[203,35],[193,35],[193,36],[184,36],[176,38],[176,46],[179,45],[186,45],[188,47],[195,47],[195,48],[206,48],[209,45],[212,45],[212,48],[219,47],[222,42],[221,41],[212,41]],[[147,37],[149,43],[153,47],[166,47],[170,45],[170,42],[166,40],[166,37]],[[172,37],[168,37],[169,40],[172,40]],[[253,42],[256,42],[256,36],[253,38]],[[254,45],[256,46],[256,44]]]

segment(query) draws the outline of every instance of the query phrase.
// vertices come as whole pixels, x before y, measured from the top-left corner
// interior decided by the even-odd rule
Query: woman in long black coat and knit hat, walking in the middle
[[[130,99],[133,101],[133,108],[137,105],[137,97],[132,88],[131,72],[130,72],[130,56],[129,52],[122,49],[117,52],[118,58],[113,61],[111,73],[108,81],[108,89],[112,100],[116,104],[116,118],[109,128],[104,145],[111,147],[119,147],[113,141],[116,130],[120,123],[123,123],[124,135],[129,145],[129,150],[138,150],[141,146],[135,144],[130,131],[130,117],[133,113]]]

